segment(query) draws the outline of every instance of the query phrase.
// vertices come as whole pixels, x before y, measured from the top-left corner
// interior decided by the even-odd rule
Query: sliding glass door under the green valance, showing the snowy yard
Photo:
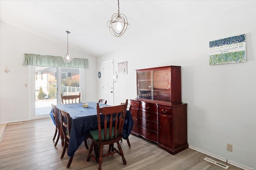
[[[80,69],[57,67],[33,67],[32,119],[49,117],[51,104],[61,104],[63,95],[79,94]],[[60,90],[59,90],[60,89]],[[33,106],[34,105],[34,106]]]

